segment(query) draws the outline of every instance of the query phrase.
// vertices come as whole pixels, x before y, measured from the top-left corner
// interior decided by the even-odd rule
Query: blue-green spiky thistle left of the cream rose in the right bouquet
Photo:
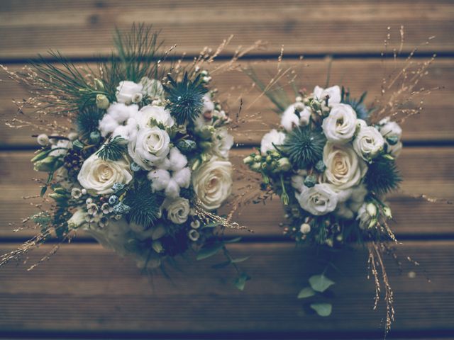
[[[311,130],[307,126],[294,128],[285,137],[282,152],[289,157],[294,166],[305,169],[319,162],[323,156],[326,137],[323,132]]]

